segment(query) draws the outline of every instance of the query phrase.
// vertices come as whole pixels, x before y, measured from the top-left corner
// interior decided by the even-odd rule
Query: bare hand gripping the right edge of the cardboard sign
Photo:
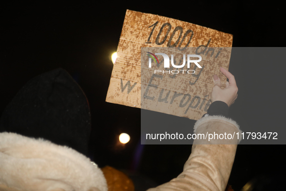
[[[214,101],[223,101],[228,107],[233,104],[233,102],[237,98],[238,87],[236,86],[236,82],[234,76],[228,72],[225,68],[221,67],[220,71],[228,78],[226,82],[226,88],[221,88],[221,80],[217,75],[213,75],[214,86],[211,92],[211,103]]]

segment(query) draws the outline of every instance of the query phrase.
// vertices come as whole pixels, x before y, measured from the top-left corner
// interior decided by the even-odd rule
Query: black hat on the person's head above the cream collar
[[[90,109],[78,84],[59,68],[24,85],[0,118],[0,132],[67,145],[87,155]]]

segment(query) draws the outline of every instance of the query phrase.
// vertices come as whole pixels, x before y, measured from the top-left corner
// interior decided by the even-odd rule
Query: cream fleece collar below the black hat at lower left
[[[19,191],[107,191],[102,171],[77,151],[43,139],[0,133],[0,185]]]

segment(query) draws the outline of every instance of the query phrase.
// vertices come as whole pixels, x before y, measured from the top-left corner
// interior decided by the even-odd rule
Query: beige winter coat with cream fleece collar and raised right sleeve
[[[196,122],[197,134],[239,132],[219,116]],[[195,140],[177,178],[148,191],[224,191],[238,139]],[[162,159],[164,160],[164,159]],[[15,133],[0,133],[0,191],[107,191],[102,171],[75,150]]]

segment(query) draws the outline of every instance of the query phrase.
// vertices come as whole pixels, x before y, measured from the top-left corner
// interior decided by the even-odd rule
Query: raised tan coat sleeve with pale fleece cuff
[[[236,122],[208,116],[196,122],[195,133],[240,133]],[[177,177],[148,191],[225,191],[239,139],[194,140],[192,153]],[[164,160],[164,159],[162,159]]]

